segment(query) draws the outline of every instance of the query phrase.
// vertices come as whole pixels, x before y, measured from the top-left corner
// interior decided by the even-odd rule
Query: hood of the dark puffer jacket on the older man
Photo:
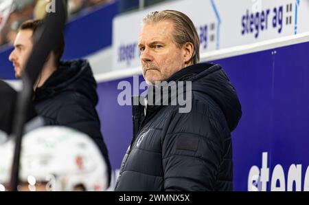
[[[168,81],[170,80],[192,81],[192,93],[196,91],[213,99],[225,114],[230,131],[236,128],[242,116],[240,101],[236,89],[220,65],[191,65],[171,76]]]

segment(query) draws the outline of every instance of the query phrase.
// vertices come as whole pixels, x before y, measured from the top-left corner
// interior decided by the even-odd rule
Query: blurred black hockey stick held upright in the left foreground
[[[13,129],[16,142],[10,177],[10,191],[18,191],[21,141],[27,119],[27,110],[32,100],[33,85],[38,78],[38,74],[43,69],[47,56],[54,49],[54,46],[60,42],[62,30],[65,28],[67,21],[67,0],[52,1],[56,1],[55,12],[49,12],[45,18],[43,28],[38,28],[34,33],[34,47],[22,75],[23,90],[19,92],[17,97]]]

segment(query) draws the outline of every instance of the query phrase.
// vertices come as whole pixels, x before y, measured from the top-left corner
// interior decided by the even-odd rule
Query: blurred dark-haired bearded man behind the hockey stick
[[[33,47],[33,35],[44,25],[42,20],[25,21],[14,41],[10,54],[15,75],[20,78]],[[60,61],[65,41],[55,45],[34,85],[33,102],[36,112],[45,125],[71,127],[90,136],[104,155],[108,166],[108,183],[111,165],[108,151],[100,131],[100,119],[95,106],[98,103],[97,84],[88,61]]]

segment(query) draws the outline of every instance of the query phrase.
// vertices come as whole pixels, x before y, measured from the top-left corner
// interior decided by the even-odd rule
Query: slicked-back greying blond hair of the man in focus
[[[143,23],[158,23],[165,20],[171,21],[174,25],[172,37],[178,47],[181,47],[187,42],[193,44],[194,52],[192,54],[192,63],[198,63],[200,61],[200,39],[194,23],[186,14],[176,10],[151,12],[144,17]]]

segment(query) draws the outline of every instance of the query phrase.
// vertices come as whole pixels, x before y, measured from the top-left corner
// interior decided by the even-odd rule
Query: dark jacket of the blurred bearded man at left
[[[34,93],[37,113],[47,125],[71,127],[87,133],[98,144],[108,164],[108,151],[100,131],[100,120],[95,110],[98,103],[97,83],[88,61],[60,62],[56,72]]]

